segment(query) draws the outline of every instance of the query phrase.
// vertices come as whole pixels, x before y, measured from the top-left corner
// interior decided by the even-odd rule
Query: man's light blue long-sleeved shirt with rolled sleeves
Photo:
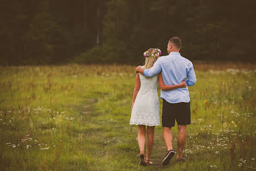
[[[171,52],[167,56],[161,56],[152,68],[144,70],[145,77],[152,77],[162,71],[162,79],[165,85],[176,85],[187,79],[187,85],[196,83],[196,75],[193,64],[185,59],[179,52]],[[189,91],[187,88],[177,88],[171,91],[162,91],[161,98],[169,103],[189,102]]]

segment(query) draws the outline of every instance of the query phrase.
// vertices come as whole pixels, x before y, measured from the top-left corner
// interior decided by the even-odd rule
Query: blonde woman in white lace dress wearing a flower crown
[[[145,65],[143,68],[151,68],[161,55],[160,49],[150,48],[144,52]],[[147,78],[140,73],[136,75],[136,83],[133,92],[133,102],[131,106],[130,125],[138,125],[138,144],[139,144],[139,164],[146,166],[152,165],[150,154],[154,143],[154,126],[160,126],[160,105],[157,94],[157,83],[161,90],[170,91],[176,88],[187,87],[185,81],[178,85],[165,85],[162,80],[161,72],[158,75]],[[147,128],[146,128],[147,126]],[[144,157],[145,134],[147,132],[146,142],[146,160]]]

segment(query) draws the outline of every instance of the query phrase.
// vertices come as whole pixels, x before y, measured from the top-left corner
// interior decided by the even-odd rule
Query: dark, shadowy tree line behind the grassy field
[[[253,0],[1,1],[0,65],[142,64],[180,37],[189,60],[255,61]]]

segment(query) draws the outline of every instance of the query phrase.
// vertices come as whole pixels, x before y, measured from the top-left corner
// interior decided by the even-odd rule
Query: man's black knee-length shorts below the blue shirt
[[[190,102],[168,103],[162,99],[162,127],[173,127],[175,120],[178,125],[189,125],[190,113]]]

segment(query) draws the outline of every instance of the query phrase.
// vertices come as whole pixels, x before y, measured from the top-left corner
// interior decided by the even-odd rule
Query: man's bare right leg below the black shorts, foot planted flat
[[[186,142],[186,126],[178,125],[178,129],[179,129],[179,135],[177,139],[177,145],[178,145],[177,158],[182,158],[182,153],[183,153],[183,149]]]

